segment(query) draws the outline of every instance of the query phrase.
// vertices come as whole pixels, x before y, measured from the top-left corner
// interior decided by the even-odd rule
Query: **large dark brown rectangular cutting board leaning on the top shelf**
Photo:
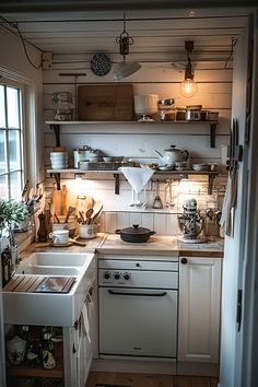
[[[132,84],[78,86],[78,117],[90,121],[131,121]]]

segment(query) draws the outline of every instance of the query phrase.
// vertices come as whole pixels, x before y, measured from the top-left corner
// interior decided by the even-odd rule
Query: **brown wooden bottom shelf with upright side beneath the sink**
[[[63,370],[63,348],[62,342],[55,343],[55,360],[56,366],[51,370],[43,367],[28,367],[25,365],[8,366],[8,376],[30,376],[30,377],[64,377]]]

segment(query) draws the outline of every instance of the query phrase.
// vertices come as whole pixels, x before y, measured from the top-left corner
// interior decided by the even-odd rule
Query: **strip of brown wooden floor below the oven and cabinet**
[[[85,387],[216,387],[218,377],[91,372]]]

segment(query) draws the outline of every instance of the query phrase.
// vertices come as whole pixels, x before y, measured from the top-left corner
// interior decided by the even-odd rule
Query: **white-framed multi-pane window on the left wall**
[[[21,199],[24,180],[22,87],[0,83],[0,197]]]

